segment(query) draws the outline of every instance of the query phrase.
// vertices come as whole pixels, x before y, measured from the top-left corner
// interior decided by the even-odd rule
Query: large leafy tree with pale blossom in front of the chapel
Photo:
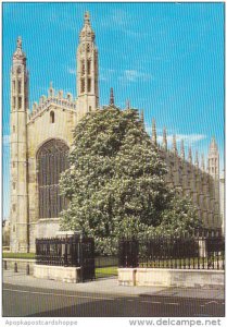
[[[88,113],[75,129],[68,161],[61,179],[68,199],[61,227],[93,237],[101,253],[113,253],[121,237],[197,225],[190,203],[176,202],[166,187],[165,164],[136,110],[109,107]]]

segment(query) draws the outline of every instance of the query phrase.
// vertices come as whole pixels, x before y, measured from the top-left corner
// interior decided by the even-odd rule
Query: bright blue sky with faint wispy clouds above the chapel
[[[3,217],[9,216],[10,68],[23,38],[29,102],[55,89],[76,97],[76,48],[88,10],[99,48],[100,104],[142,109],[148,132],[207,155],[215,135],[224,168],[223,3],[3,3]]]

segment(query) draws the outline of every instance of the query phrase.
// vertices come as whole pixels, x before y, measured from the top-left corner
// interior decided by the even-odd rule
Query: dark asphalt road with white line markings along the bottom
[[[4,317],[223,317],[223,300],[119,296],[3,283]]]

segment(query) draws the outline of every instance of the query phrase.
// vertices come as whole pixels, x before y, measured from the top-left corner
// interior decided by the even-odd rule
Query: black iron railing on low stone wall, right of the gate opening
[[[224,269],[225,239],[217,231],[199,231],[180,238],[121,240],[119,267]]]

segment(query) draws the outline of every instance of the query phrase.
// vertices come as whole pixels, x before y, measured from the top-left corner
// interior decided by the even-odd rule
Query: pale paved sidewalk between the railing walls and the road
[[[102,293],[118,296],[173,296],[224,300],[225,291],[217,289],[190,289],[190,288],[164,288],[164,287],[127,287],[118,286],[116,278],[99,279],[83,283],[65,283],[55,280],[38,279],[26,276],[25,272],[3,270],[3,282],[15,286],[46,288],[47,290]]]

